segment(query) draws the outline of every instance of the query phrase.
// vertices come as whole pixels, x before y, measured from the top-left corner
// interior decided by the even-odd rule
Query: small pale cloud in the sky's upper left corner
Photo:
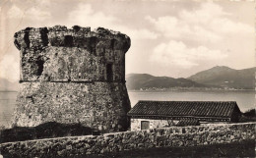
[[[7,16],[10,19],[28,19],[32,21],[45,21],[51,18],[50,12],[42,11],[39,7],[32,7],[26,11],[23,11],[16,5],[13,5],[7,12]]]

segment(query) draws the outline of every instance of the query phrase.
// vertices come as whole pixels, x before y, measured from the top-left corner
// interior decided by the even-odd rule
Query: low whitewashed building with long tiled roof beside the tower
[[[235,123],[240,115],[236,102],[224,101],[139,101],[128,112],[131,131]]]

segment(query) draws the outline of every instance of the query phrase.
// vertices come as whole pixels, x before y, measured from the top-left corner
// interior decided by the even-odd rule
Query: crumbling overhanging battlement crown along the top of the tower
[[[103,27],[97,27],[95,30],[81,26],[27,27],[16,32],[14,37],[19,50],[41,49],[45,46],[92,48],[102,44],[106,49],[122,49],[126,52],[131,44],[129,36]]]

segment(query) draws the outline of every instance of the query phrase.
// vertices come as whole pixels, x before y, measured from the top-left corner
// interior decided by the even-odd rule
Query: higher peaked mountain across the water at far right
[[[256,67],[234,70],[224,66],[217,66],[212,69],[199,72],[187,79],[206,85],[219,85],[235,89],[255,88]]]

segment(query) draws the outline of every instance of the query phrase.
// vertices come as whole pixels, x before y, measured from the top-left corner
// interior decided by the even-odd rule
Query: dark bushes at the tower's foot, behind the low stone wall
[[[93,130],[91,128],[84,127],[81,124],[66,125],[49,122],[32,128],[14,127],[12,129],[1,130],[0,143],[39,138],[88,135],[92,134],[92,132]]]

